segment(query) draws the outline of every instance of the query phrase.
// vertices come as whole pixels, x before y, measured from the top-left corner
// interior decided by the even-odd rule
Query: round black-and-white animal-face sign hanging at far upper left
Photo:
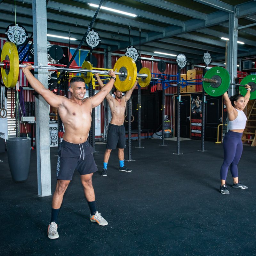
[[[8,41],[21,46],[27,42],[28,33],[24,27],[19,24],[11,24],[5,30]]]

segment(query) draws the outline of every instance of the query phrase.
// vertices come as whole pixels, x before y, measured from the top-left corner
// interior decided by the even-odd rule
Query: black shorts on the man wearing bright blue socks
[[[125,128],[123,125],[108,125],[107,149],[125,148]]]

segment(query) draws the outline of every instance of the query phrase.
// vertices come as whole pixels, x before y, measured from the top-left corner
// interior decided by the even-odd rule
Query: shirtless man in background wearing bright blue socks
[[[100,88],[104,86],[100,80],[99,74],[95,74]],[[108,135],[107,135],[107,149],[104,154],[103,171],[101,176],[107,176],[107,165],[109,156],[112,149],[118,148],[118,158],[119,158],[119,171],[120,172],[132,172],[124,166],[124,148],[125,148],[125,128],[124,128],[124,113],[127,101],[131,98],[132,92],[138,83],[138,78],[132,89],[130,89],[122,97],[123,92],[118,91],[116,88],[114,90],[115,97],[111,96],[109,93],[106,96],[109,108],[111,110],[111,121],[108,125]]]

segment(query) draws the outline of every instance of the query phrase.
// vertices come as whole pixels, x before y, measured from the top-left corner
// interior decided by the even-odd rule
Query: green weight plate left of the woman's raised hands
[[[217,83],[203,81],[204,91],[210,96],[218,97],[227,92],[230,76],[225,68],[213,67],[205,73],[204,78],[217,80]]]

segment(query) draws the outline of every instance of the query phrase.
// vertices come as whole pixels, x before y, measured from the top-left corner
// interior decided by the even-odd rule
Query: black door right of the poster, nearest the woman
[[[205,104],[205,140],[217,141],[218,125],[222,122],[222,96],[212,97],[206,95]],[[219,140],[221,140],[221,127],[219,127]]]

